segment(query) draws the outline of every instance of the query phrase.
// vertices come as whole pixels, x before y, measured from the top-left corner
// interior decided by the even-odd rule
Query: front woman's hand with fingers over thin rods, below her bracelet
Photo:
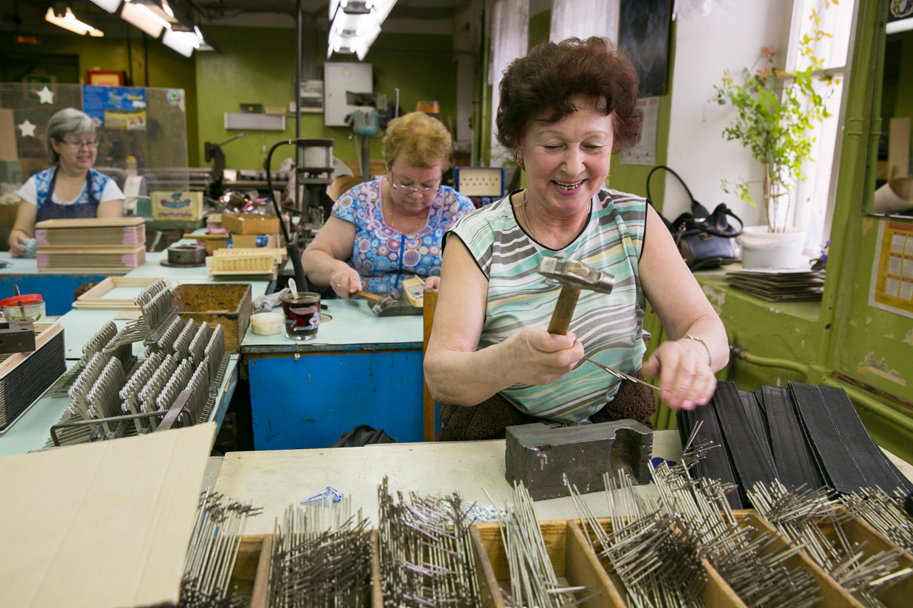
[[[705,405],[717,388],[707,351],[698,342],[687,339],[660,344],[644,363],[643,372],[659,379],[659,396],[672,409],[691,410]]]

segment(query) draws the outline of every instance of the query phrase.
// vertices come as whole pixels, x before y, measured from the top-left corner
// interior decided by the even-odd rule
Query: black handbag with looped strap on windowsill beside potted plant
[[[708,212],[703,204],[694,199],[681,176],[662,164],[654,167],[646,176],[647,199],[650,198],[650,176],[657,169],[665,169],[675,175],[691,199],[691,213],[679,215],[674,222],[663,217],[687,267],[698,270],[738,262],[741,259],[741,248],[736,236],[742,234],[744,227],[739,216],[732,213],[725,203],[718,204],[713,213]],[[729,224],[730,217],[739,223],[738,228]]]

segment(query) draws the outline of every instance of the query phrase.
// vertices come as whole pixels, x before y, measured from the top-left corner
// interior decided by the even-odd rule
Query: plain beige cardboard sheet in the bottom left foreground
[[[177,603],[215,423],[0,458],[5,606]]]

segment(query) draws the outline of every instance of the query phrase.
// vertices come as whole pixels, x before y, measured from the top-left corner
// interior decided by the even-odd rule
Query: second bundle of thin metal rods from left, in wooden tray
[[[269,605],[360,608],[371,603],[368,520],[340,503],[292,506],[276,522],[269,570]]]

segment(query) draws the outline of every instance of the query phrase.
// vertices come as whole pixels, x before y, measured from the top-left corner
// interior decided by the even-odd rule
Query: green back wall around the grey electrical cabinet
[[[325,32],[306,36],[326,37]],[[204,142],[224,142],[238,131],[226,131],[224,113],[238,111],[239,103],[289,108],[295,78],[295,30],[279,28],[210,26],[206,28],[219,53],[196,55],[196,87],[200,93],[199,155]],[[373,65],[374,91],[394,100],[400,89],[400,106],[415,110],[418,100],[438,100],[445,124],[456,120],[456,62],[449,36],[384,34],[374,41],[365,62]],[[352,61],[348,56],[334,57]],[[226,166],[230,169],[260,169],[273,143],[294,138],[295,117],[286,118],[285,132],[250,131],[226,145]],[[333,154],[343,161],[357,158],[355,143],[347,127],[326,127],[322,113],[301,114],[301,136],[332,138]],[[274,153],[273,169],[292,155],[292,149]],[[371,146],[373,159],[383,158],[381,140]]]

